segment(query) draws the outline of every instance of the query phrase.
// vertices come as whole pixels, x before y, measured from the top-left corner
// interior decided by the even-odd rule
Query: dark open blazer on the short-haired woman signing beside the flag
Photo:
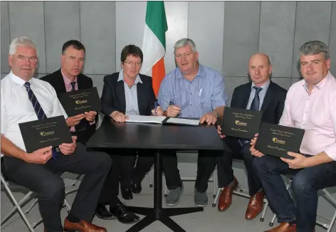
[[[152,115],[155,101],[157,100],[152,88],[152,78],[148,75],[140,75],[142,83],[137,83],[137,105],[140,115]],[[117,81],[119,73],[105,75],[104,87],[101,97],[104,115],[117,110],[125,114],[126,98],[124,81]]]

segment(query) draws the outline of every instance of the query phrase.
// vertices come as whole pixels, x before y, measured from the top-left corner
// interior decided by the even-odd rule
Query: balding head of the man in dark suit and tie
[[[248,60],[248,74],[256,86],[260,87],[265,84],[271,73],[271,60],[265,53],[253,54]]]

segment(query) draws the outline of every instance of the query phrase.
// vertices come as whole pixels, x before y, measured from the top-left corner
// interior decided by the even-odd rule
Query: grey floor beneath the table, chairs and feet
[[[70,186],[71,179],[75,176],[71,176],[71,174],[65,174],[65,186]],[[134,195],[134,199],[131,201],[122,201],[129,206],[153,206],[153,189],[149,188],[149,181],[147,178],[142,182],[142,194]],[[184,182],[185,190],[182,195],[181,201],[179,203],[179,207],[190,207],[194,206],[194,182],[188,181]],[[16,188],[15,188],[16,189]],[[22,189],[16,189],[14,192],[14,196],[20,199],[23,196]],[[203,232],[203,231],[225,231],[225,232],[261,232],[268,230],[271,228],[268,226],[269,221],[273,216],[271,210],[268,209],[266,213],[266,218],[264,222],[259,221],[258,218],[253,221],[246,221],[244,219],[244,214],[246,211],[246,206],[248,204],[248,199],[245,199],[241,196],[233,196],[233,203],[230,209],[224,213],[220,213],[217,208],[211,207],[211,203],[214,200],[212,198],[212,184],[209,184],[208,189],[209,196],[209,204],[204,208],[203,212],[199,213],[191,213],[183,216],[174,216],[172,217],[174,221],[176,221],[184,230],[193,231],[193,232]],[[71,204],[75,194],[70,194],[66,197],[66,199]],[[163,200],[163,205],[164,200]],[[11,201],[9,201],[8,196],[6,196],[3,189],[1,189],[1,218],[6,215],[11,209]],[[26,209],[25,206],[23,209]],[[61,211],[62,220],[67,215],[65,209]],[[38,212],[37,206],[33,208],[33,210],[27,214],[28,220],[31,222],[36,221],[40,216]],[[143,217],[143,216],[141,216]],[[118,221],[104,221],[97,217],[93,219],[93,223],[98,224],[99,226],[105,226],[107,231],[112,232],[121,232],[126,231],[131,226],[119,223]],[[275,223],[276,224],[276,223]],[[25,224],[21,220],[18,214],[15,214],[13,218],[7,221],[3,226],[1,226],[1,231],[4,232],[16,232],[16,231],[28,231]],[[36,227],[36,231],[43,231],[43,224],[40,224]],[[143,231],[148,232],[165,232],[170,231],[169,228],[165,227],[160,222],[152,223],[150,226],[145,228]],[[320,226],[316,226],[316,232],[322,232],[325,229]],[[332,230],[336,232],[336,226]]]

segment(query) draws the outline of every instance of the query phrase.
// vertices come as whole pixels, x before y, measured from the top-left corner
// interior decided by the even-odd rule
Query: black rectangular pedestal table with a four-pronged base
[[[154,221],[161,221],[175,232],[184,232],[170,216],[203,211],[202,207],[162,209],[162,160],[160,150],[223,150],[223,143],[214,125],[182,126],[145,123],[118,123],[105,117],[100,128],[87,142],[87,147],[98,149],[127,148],[154,149],[154,208],[128,207],[145,215],[127,232],[141,231]]]

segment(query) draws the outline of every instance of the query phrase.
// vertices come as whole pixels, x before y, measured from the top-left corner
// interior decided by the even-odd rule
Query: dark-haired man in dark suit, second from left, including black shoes
[[[45,77],[41,78],[41,80],[45,80],[50,83],[56,90],[58,96],[60,93],[92,88],[92,79],[80,73],[83,69],[84,60],[85,47],[83,44],[80,43],[80,41],[67,41],[63,44],[62,47],[61,69],[57,70],[55,73],[46,75]],[[88,139],[90,139],[90,137],[95,132],[95,122],[97,122],[98,117],[97,112],[85,112],[85,114],[68,117],[67,122],[68,120],[70,120],[68,125],[71,126],[70,131],[72,135],[78,137],[78,142],[86,144]],[[117,170],[115,160],[112,161],[113,164],[112,169],[110,170],[110,174],[115,173],[114,170]],[[105,186],[103,189],[105,189]],[[125,209],[120,200],[117,198],[117,194],[111,194],[110,197],[114,199],[115,204],[113,205],[110,212],[106,211],[106,209],[102,212],[98,206],[95,214],[99,218],[109,220],[117,218],[118,221],[121,221],[122,223],[131,223],[137,220],[135,220],[135,217],[137,216],[134,213]]]

